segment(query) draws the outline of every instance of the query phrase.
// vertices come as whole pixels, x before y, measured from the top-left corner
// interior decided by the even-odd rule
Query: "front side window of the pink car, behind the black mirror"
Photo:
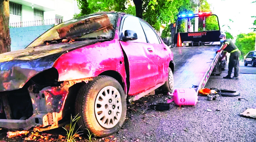
[[[147,43],[146,36],[143,32],[143,29],[140,25],[139,18],[128,16],[124,19],[124,24],[122,28],[122,36],[124,36],[125,30],[132,30],[137,33],[138,39],[128,41],[128,42],[140,42],[140,43]]]

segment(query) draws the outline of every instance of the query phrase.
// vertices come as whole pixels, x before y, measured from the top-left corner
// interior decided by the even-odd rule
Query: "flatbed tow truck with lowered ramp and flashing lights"
[[[175,62],[174,89],[194,88],[198,93],[211,74],[221,74],[227,59],[221,62],[221,53],[216,54],[223,45],[220,34],[218,16],[212,12],[178,16],[171,45]]]

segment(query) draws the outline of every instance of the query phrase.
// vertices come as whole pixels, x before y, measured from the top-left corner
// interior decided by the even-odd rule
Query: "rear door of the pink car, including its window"
[[[168,67],[170,62],[170,51],[166,48],[165,44],[162,43],[160,38],[156,35],[155,30],[152,29],[148,23],[140,20],[140,24],[146,34],[148,43],[154,46],[155,53],[158,60],[158,83],[163,83],[168,79]]]

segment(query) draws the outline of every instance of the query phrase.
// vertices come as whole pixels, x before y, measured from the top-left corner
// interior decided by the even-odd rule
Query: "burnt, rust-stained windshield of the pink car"
[[[26,48],[42,46],[47,42],[59,43],[62,39],[111,38],[115,29],[116,13],[88,15],[52,27]]]

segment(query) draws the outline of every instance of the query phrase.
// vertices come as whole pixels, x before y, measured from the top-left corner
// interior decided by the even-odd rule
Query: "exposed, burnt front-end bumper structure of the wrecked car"
[[[30,100],[27,100],[30,101],[29,103],[32,105],[32,107],[31,109],[27,110],[31,111],[31,113],[28,114],[32,115],[29,115],[29,117],[28,115],[24,115],[27,114],[26,112],[23,112],[26,109],[22,109],[21,112],[21,110],[16,107],[18,105],[14,104],[15,102],[10,103],[10,100],[13,98],[9,91],[0,92],[1,118],[4,117],[4,119],[0,119],[0,128],[12,130],[45,131],[67,124],[69,120],[63,120],[63,118],[65,113],[68,112],[66,111],[66,107],[70,108],[69,106],[65,105],[65,102],[70,104],[70,100],[67,101],[68,96],[70,96],[70,87],[76,83],[87,83],[91,80],[92,78],[66,81],[60,83],[60,85],[57,87],[45,87],[40,91],[37,91],[35,85],[30,85],[27,89],[28,99]],[[29,104],[26,105],[26,107],[29,106]]]

